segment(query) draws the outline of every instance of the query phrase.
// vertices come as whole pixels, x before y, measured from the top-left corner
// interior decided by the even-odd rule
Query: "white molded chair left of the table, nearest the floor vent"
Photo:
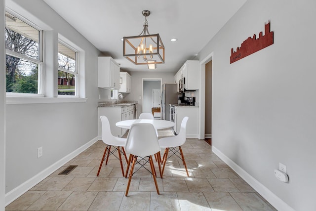
[[[117,157],[114,154],[116,151],[118,151],[118,157],[117,158],[118,158],[118,160],[120,162],[120,167],[122,169],[122,174],[123,174],[123,176],[125,176],[121,154],[124,155],[125,160],[127,162],[126,153],[124,151],[126,138],[119,138],[119,137],[116,137],[116,136],[112,135],[109,119],[106,116],[101,116],[100,118],[101,118],[101,123],[102,123],[102,134],[101,134],[102,141],[107,145],[107,147],[104,150],[103,157],[102,157],[102,160],[101,160],[101,163],[100,163],[100,167],[99,167],[97,176],[99,176],[99,173],[100,173],[103,161],[105,160],[105,157],[106,157],[105,165],[107,165],[110,155],[114,155],[115,157]],[[112,149],[114,148],[114,150],[111,151],[111,147],[112,147]]]

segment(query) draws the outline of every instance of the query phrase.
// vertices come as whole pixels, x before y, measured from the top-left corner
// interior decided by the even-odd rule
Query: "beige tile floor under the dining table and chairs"
[[[161,137],[169,131],[158,132]],[[152,175],[141,168],[133,175],[125,197],[128,179],[122,176],[114,156],[110,156],[107,166],[103,163],[97,177],[105,146],[97,141],[9,204],[5,211],[276,211],[204,140],[187,139],[182,146],[190,177],[178,157],[168,160],[163,179],[157,178],[160,195]],[[78,167],[68,175],[58,175],[69,165]],[[155,165],[158,173],[156,162]]]

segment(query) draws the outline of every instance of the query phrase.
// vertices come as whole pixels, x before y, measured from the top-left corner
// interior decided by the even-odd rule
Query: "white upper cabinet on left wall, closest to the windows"
[[[98,87],[119,89],[119,66],[110,56],[98,57]]]

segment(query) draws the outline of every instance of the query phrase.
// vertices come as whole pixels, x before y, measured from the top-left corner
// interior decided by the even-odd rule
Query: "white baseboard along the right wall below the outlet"
[[[212,146],[212,151],[224,161],[230,168],[232,168],[242,179],[244,179],[254,190],[256,190],[263,198],[265,198],[278,211],[295,211],[288,206],[279,197],[277,197],[271,190],[261,184],[258,180],[253,178],[244,169],[239,167],[234,161],[228,158],[225,154]]]

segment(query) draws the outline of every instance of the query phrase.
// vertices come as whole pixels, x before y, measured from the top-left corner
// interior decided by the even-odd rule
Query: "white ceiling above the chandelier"
[[[246,0],[44,0],[89,42],[112,56],[125,71],[176,72],[194,59]],[[156,70],[134,65],[122,56],[124,36],[143,30],[143,10],[150,34],[159,33],[165,63]],[[177,38],[177,42],[170,42]]]

